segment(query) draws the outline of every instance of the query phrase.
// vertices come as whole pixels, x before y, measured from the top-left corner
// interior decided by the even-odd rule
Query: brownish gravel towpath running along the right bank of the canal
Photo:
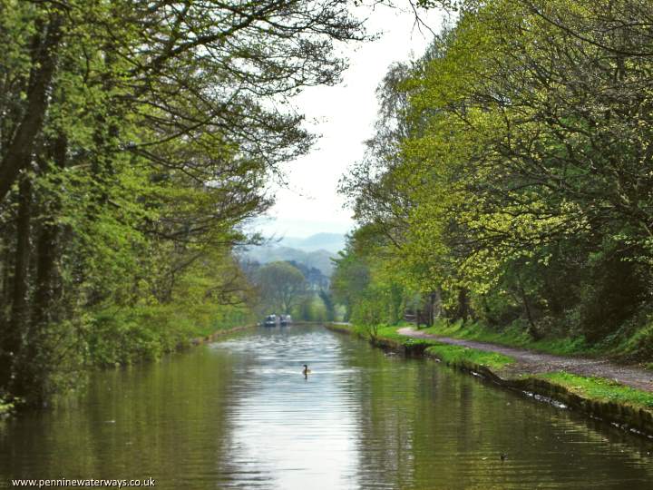
[[[517,363],[509,368],[507,374],[516,373],[548,373],[551,371],[567,371],[568,373],[580,376],[605,377],[619,382],[622,385],[643,389],[653,392],[653,372],[647,369],[631,368],[620,366],[606,359],[590,358],[566,358],[553,356],[552,354],[541,354],[525,348],[510,348],[488,342],[477,342],[476,340],[464,340],[462,338],[440,337],[413,328],[399,328],[397,333],[414,338],[431,338],[443,344],[476,348],[488,352],[499,352],[511,358]]]

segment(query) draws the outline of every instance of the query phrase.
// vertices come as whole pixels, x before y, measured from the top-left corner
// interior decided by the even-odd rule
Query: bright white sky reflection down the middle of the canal
[[[266,331],[216,344],[239,353],[234,365],[238,403],[229,407],[229,461],[220,487],[348,488],[356,466],[352,432],[355,398],[342,380],[356,369],[342,363],[342,343],[323,331]],[[249,352],[258,354],[250,355]],[[303,365],[311,367],[304,377]]]

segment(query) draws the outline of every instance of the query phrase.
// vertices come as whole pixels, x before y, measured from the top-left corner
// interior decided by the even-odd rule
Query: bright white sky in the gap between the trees
[[[443,14],[423,14],[425,24],[437,32]],[[307,156],[285,166],[288,189],[275,188],[277,203],[268,219],[257,222],[258,230],[267,236],[346,233],[353,227],[351,211],[343,209],[336,188],[347,167],[361,160],[364,142],[373,134],[376,86],[390,64],[419,57],[432,38],[424,27],[420,32],[414,26],[412,11],[383,5],[375,8],[366,25],[368,32],[383,34],[373,43],[345,47],[349,68],[343,82],[310,87],[294,100],[297,111],[306,114],[307,128],[322,137]]]

